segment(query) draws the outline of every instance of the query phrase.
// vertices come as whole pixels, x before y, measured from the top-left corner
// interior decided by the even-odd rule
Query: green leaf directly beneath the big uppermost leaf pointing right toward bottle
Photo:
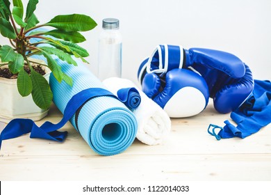
[[[63,40],[68,40],[70,42],[84,42],[85,38],[84,36],[81,35],[81,33],[79,32],[75,32],[75,31],[63,31],[63,30],[52,30],[52,31],[48,31],[48,32],[44,32],[44,35],[49,35],[49,36],[54,36],[55,38],[60,38]]]

